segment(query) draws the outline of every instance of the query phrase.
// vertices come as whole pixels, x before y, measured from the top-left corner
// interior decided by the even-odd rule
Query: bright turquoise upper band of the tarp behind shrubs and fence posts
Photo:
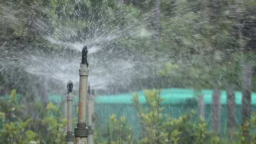
[[[144,97],[144,91],[136,91],[130,93],[124,93],[119,95],[105,95],[97,96],[96,103],[108,103],[108,104],[132,104],[132,96],[134,93],[137,93],[139,102],[144,104],[146,99]],[[211,104],[211,94],[212,90],[201,90],[201,93],[204,95],[205,104]],[[193,99],[194,91],[191,89],[164,89],[161,90],[161,97],[165,99],[163,104],[178,104],[186,102],[188,99]],[[235,92],[236,95],[236,104],[240,105],[242,101],[242,94],[240,91]],[[256,93],[252,93],[252,104],[256,104]],[[227,104],[227,95],[226,91],[221,91],[221,104]]]

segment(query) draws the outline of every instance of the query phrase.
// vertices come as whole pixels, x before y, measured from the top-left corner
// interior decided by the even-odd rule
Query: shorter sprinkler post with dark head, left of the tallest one
[[[67,144],[74,144],[74,135],[73,135],[73,126],[72,126],[72,122],[73,122],[73,94],[72,94],[72,90],[73,90],[73,82],[72,81],[68,81],[67,83],[67,135],[65,135],[65,140],[67,142]]]

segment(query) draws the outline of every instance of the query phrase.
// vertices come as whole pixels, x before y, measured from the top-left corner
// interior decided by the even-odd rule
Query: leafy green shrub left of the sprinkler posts
[[[16,90],[11,91],[9,99],[1,99],[0,144],[29,144],[30,141],[39,141],[40,144],[65,144],[66,121],[61,116],[60,106],[51,102],[46,108],[37,102],[33,104],[38,107],[38,119],[27,118],[29,116],[24,110],[26,105],[18,103]]]

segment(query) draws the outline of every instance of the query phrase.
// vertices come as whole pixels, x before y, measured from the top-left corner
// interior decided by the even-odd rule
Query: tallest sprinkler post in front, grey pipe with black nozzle
[[[87,100],[87,82],[89,76],[89,64],[87,61],[87,46],[82,48],[82,62],[79,69],[79,104],[78,104],[78,123],[74,130],[75,144],[87,144],[87,137],[92,133],[92,129],[86,125],[86,100]]]

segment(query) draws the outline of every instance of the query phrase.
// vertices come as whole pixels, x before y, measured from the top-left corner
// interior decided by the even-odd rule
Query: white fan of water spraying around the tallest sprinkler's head
[[[7,4],[12,7],[7,7]],[[72,80],[76,84],[74,88],[77,88],[80,52],[82,46],[87,45],[90,63],[89,81],[94,89],[107,89],[115,85],[117,90],[120,88],[129,90],[128,86],[136,80],[153,76],[152,67],[156,67],[159,63],[159,59],[155,61],[154,54],[140,53],[137,49],[123,47],[118,42],[127,36],[151,37],[145,28],[147,22],[142,23],[134,19],[133,23],[120,27],[113,21],[125,20],[129,15],[119,14],[118,17],[101,18],[97,21],[96,18],[82,19],[78,22],[73,19],[55,18],[50,20],[54,21],[50,23],[44,18],[34,17],[35,14],[40,13],[50,17],[47,16],[50,15],[47,8],[39,7],[39,4],[34,3],[29,5],[27,9],[24,3],[15,5],[2,2],[0,4],[2,26],[17,31],[22,28],[23,21],[30,20],[31,35],[28,36],[38,40],[43,39],[47,44],[42,46],[37,45],[36,41],[2,38],[0,46],[2,71],[18,68],[32,75],[61,81],[62,85]],[[89,17],[94,15],[91,13]],[[88,31],[84,30],[83,22],[88,24]],[[55,24],[62,26],[55,27]],[[47,48],[47,45],[51,48]],[[129,45],[134,44],[131,41]],[[33,83],[33,81],[29,82]]]

